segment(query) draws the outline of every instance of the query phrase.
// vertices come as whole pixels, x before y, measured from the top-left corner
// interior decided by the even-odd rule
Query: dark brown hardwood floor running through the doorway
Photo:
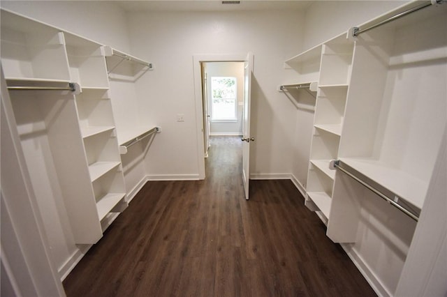
[[[67,296],[376,296],[291,181],[251,181],[213,137],[204,181],[150,181],[66,277]]]

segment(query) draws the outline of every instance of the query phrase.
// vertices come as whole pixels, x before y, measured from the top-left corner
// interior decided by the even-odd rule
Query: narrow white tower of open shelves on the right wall
[[[316,80],[309,86],[318,85],[310,89],[317,93],[305,204],[326,219],[335,178],[329,162],[338,155],[352,56],[353,41],[343,34],[286,61],[298,73],[298,82]]]

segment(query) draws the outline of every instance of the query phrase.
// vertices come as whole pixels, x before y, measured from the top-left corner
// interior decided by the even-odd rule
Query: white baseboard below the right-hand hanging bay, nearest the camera
[[[342,248],[344,252],[348,255],[349,259],[353,262],[354,265],[356,265],[358,271],[362,273],[363,277],[365,277],[365,280],[368,282],[369,286],[372,287],[374,292],[376,292],[377,296],[380,297],[389,297],[393,296],[386,287],[383,286],[381,281],[379,280],[379,277],[377,277],[369,268],[369,266],[363,261],[360,254],[356,252],[353,248],[351,248],[351,245],[347,243],[340,243],[342,245]]]

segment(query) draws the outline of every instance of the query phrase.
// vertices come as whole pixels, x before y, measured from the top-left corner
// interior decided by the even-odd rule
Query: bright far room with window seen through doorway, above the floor
[[[210,136],[242,136],[244,62],[202,62],[204,155]]]

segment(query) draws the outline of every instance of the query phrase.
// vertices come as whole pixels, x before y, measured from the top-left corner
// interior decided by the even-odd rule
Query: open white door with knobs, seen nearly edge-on
[[[250,181],[250,106],[251,106],[251,75],[253,73],[253,54],[249,52],[244,61],[244,119],[242,121],[242,179],[244,181],[245,199],[249,199]]]

